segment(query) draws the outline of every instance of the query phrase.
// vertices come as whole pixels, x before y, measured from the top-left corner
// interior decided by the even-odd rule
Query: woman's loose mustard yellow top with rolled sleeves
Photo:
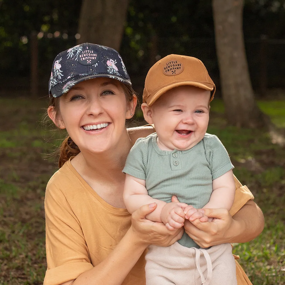
[[[232,215],[253,199],[249,189],[238,180],[236,186]],[[70,161],[50,178],[44,207],[48,264],[44,285],[58,285],[76,279],[99,264],[131,225],[128,211],[115,208],[100,198]],[[145,285],[144,265],[142,255],[122,285]],[[237,264],[238,285],[251,284],[245,278]]]

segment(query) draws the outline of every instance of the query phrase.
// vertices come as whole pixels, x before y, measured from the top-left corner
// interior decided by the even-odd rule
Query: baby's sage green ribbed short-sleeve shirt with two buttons
[[[199,209],[208,203],[212,182],[233,168],[227,150],[215,135],[204,138],[188,150],[161,150],[156,133],[140,138],[131,149],[123,172],[145,180],[148,195],[169,203],[180,202]],[[185,233],[180,244],[196,243]]]

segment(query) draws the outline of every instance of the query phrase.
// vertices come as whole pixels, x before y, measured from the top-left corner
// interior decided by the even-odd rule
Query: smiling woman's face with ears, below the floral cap
[[[127,102],[121,83],[94,78],[76,84],[59,99],[61,129],[66,128],[80,151],[104,152],[125,142],[125,120],[132,117],[137,100]],[[54,112],[53,112],[54,113]],[[55,115],[51,119],[55,122]]]

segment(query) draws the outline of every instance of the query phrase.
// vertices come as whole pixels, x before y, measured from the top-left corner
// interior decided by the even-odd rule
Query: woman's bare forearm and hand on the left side
[[[145,219],[156,204],[144,205],[132,215],[132,225],[108,257],[80,274],[76,280],[61,285],[120,285],[150,244],[169,246],[182,237],[183,228],[168,231],[164,224]]]

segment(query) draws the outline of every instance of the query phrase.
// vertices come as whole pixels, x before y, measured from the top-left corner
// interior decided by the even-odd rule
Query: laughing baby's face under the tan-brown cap
[[[162,150],[187,150],[199,143],[209,123],[210,91],[180,86],[160,96],[150,107]]]

